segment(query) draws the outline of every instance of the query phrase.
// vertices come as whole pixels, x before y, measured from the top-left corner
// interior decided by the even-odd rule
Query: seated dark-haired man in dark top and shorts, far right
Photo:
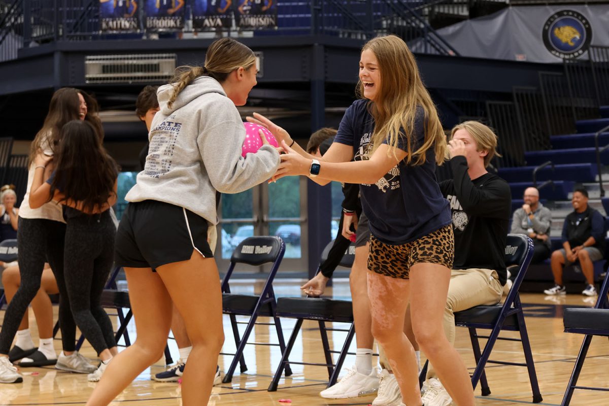
[[[554,287],[543,292],[546,295],[565,295],[563,267],[579,261],[586,289],[582,295],[596,295],[594,287],[594,261],[603,259],[605,254],[604,219],[599,211],[588,206],[588,191],[575,189],[571,198],[573,211],[567,215],[563,225],[563,248],[552,253],[551,265]]]

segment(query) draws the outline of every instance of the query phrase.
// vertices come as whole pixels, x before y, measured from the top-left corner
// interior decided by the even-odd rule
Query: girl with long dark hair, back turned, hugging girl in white
[[[45,166],[49,157],[39,153],[35,162]],[[101,306],[105,282],[114,261],[116,228],[110,207],[116,202],[116,164],[102,147],[101,137],[87,122],[64,125],[55,171],[44,182],[36,173],[29,203],[47,201],[65,205],[65,281],[74,321],[97,351],[102,363],[89,374],[97,382],[113,355],[118,354],[112,324]]]

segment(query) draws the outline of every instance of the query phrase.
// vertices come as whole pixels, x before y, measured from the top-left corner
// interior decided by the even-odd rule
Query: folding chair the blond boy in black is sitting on
[[[518,289],[524,279],[531,258],[533,257],[533,241],[523,234],[508,234],[505,247],[505,265],[516,265],[512,268],[512,274],[517,273],[512,289],[508,293],[503,304],[495,306],[476,306],[471,309],[463,310],[455,313],[455,325],[460,327],[468,327],[470,330],[471,345],[474,350],[474,358],[476,359],[476,369],[471,377],[471,383],[476,388],[478,381],[481,382],[482,396],[488,396],[491,391],[488,388],[484,367],[487,363],[495,363],[499,365],[517,365],[526,366],[529,370],[529,380],[533,391],[533,403],[543,401],[537,383],[537,374],[535,373],[535,363],[533,363],[533,355],[529,343],[529,335],[527,334],[527,326],[524,323],[523,306],[520,303]],[[490,335],[478,335],[476,329],[490,330]],[[499,337],[499,332],[518,331],[520,338]],[[478,338],[487,338],[487,343],[484,346],[484,351],[480,351]],[[521,341],[524,351],[525,363],[493,361],[489,360],[493,346],[497,340]]]

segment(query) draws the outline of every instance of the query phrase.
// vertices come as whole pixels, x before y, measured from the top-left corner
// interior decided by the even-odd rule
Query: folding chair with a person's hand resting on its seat
[[[328,257],[328,252],[330,248],[332,248],[333,243],[334,241],[331,241],[328,243],[328,245],[326,245],[326,248],[323,250],[320,263],[323,263]],[[342,267],[351,268],[354,258],[355,247],[352,244],[345,252],[345,255],[342,257],[339,265]],[[317,268],[317,272],[319,272],[319,267]],[[351,345],[351,341],[353,340],[353,336],[355,334],[355,324],[353,324],[353,307],[351,306],[351,301],[309,297],[279,298],[277,301],[277,315],[279,317],[295,318],[297,321],[294,326],[294,330],[292,331],[292,335],[290,335],[290,340],[287,343],[287,347],[281,354],[281,362],[279,363],[277,371],[273,376],[273,380],[269,385],[268,391],[274,392],[277,390],[277,385],[279,384],[279,380],[281,379],[281,374],[283,373],[284,369],[286,370],[286,376],[291,374],[291,371],[288,374],[290,363],[298,365],[325,366],[328,368],[328,388],[334,385],[339,377],[340,368],[342,368],[343,362],[345,362],[345,357],[347,357],[347,354],[350,354],[348,352],[349,346]],[[319,323],[319,332],[322,335],[323,354],[325,355],[326,363],[290,362],[288,360],[304,320],[316,320],[317,323]],[[348,329],[328,328],[325,324],[326,321],[333,323],[348,323],[350,326]],[[347,338],[345,339],[345,343],[340,351],[333,351],[330,348],[328,331],[347,332]],[[339,354],[336,364],[333,363],[332,354]]]

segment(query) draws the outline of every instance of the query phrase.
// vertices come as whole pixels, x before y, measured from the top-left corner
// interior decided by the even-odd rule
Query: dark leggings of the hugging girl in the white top
[[[68,303],[63,276],[63,242],[66,225],[54,220],[23,219],[19,217],[17,231],[18,261],[21,285],[9,303],[0,331],[0,354],[9,354],[21,318],[40,289],[44,262],[49,262],[59,289],[59,325],[62,329],[64,351],[76,348],[76,325]]]

